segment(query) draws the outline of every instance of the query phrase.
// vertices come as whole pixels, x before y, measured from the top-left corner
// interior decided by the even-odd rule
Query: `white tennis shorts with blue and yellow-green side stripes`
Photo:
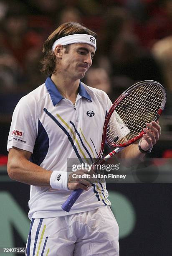
[[[27,256],[119,256],[119,227],[109,206],[32,219]]]

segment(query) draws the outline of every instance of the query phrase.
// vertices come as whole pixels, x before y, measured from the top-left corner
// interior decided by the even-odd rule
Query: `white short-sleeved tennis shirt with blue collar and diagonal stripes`
[[[96,158],[106,113],[112,103],[105,92],[80,82],[75,108],[52,82],[22,97],[12,118],[8,150],[17,147],[32,154],[30,161],[51,171],[67,171],[67,158]],[[119,127],[120,130],[120,127]],[[34,171],[34,170],[33,170]],[[106,184],[92,184],[73,205],[61,209],[71,191],[30,186],[29,218],[48,218],[111,205]]]

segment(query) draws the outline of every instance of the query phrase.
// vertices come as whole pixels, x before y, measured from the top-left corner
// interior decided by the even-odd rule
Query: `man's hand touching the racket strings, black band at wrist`
[[[140,144],[141,148],[144,151],[149,150],[152,146],[154,146],[159,140],[159,136],[161,135],[161,126],[159,122],[152,121],[152,123],[147,123],[147,128],[144,128],[143,131],[145,134],[143,135],[142,142]]]

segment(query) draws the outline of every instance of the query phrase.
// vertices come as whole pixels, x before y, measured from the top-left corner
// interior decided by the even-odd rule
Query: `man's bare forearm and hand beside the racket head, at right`
[[[149,128],[149,129],[147,129]],[[141,151],[139,150],[138,144],[132,144],[124,150],[122,150],[120,154],[120,158],[122,159],[138,159],[143,158],[146,154],[146,151],[149,151],[157,141],[159,140],[159,136],[161,135],[161,127],[159,122],[152,121],[152,123],[147,123],[147,128],[144,128],[145,134],[143,134],[142,141],[140,143]],[[145,154],[143,153],[145,151]]]

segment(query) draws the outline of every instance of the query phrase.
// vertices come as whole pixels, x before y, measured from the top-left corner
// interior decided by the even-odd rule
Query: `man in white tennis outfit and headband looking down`
[[[49,77],[14,110],[8,174],[31,185],[26,255],[119,255],[119,230],[105,184],[68,178],[66,172],[67,158],[96,158],[111,107],[105,92],[80,82],[95,51],[94,32],[78,23],[59,26],[43,47],[42,71]],[[144,153],[160,135],[157,123],[147,126],[151,130],[145,129],[140,144]],[[142,152],[132,145],[121,156],[141,158]],[[84,192],[71,212],[64,212],[61,204],[76,188]]]

